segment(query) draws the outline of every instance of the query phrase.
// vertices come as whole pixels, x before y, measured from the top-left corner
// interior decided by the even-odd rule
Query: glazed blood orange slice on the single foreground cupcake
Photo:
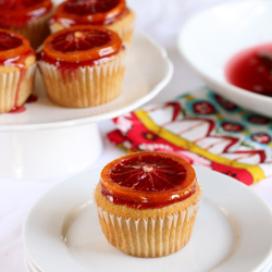
[[[121,157],[101,172],[101,189],[120,200],[154,206],[180,201],[196,190],[196,174],[182,158],[162,152]]]

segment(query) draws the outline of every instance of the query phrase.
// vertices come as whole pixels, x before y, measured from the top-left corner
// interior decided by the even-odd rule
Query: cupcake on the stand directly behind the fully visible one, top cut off
[[[73,25],[103,26],[131,44],[135,14],[125,0],[67,0],[60,4],[50,20],[52,33]]]

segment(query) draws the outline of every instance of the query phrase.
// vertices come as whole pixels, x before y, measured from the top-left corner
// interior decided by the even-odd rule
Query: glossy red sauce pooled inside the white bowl
[[[226,64],[225,76],[239,88],[272,97],[272,44],[236,53]]]

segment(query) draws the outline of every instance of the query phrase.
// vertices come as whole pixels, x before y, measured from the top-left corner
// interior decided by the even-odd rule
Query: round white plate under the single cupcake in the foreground
[[[47,193],[23,228],[25,250],[44,272],[260,271],[272,258],[272,214],[250,188],[196,168],[205,198],[189,244],[157,259],[127,256],[103,237],[92,202],[99,171],[85,172]],[[62,238],[61,238],[62,237]],[[66,240],[66,243],[64,242]]]

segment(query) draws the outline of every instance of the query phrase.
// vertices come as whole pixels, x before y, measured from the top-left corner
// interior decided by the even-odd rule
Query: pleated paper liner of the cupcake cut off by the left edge
[[[0,112],[9,112],[22,106],[33,91],[36,63],[26,67],[20,82],[22,71],[0,73]],[[20,86],[18,86],[20,84]]]

